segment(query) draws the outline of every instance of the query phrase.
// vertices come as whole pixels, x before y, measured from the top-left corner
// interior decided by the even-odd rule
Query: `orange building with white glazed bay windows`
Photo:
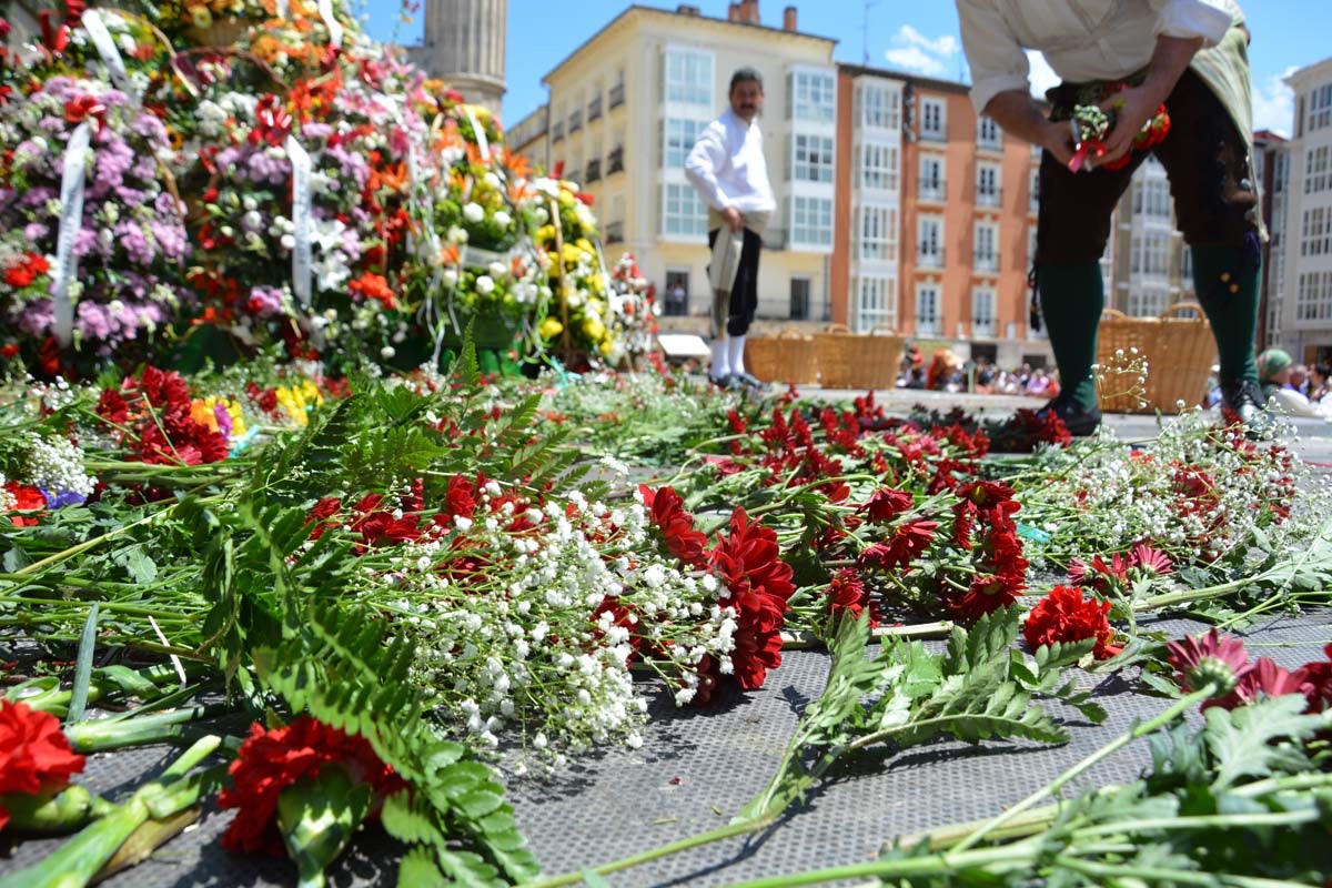
[[[967,87],[839,65],[831,314],[1004,366],[1027,325],[1039,150],[978,120]]]

